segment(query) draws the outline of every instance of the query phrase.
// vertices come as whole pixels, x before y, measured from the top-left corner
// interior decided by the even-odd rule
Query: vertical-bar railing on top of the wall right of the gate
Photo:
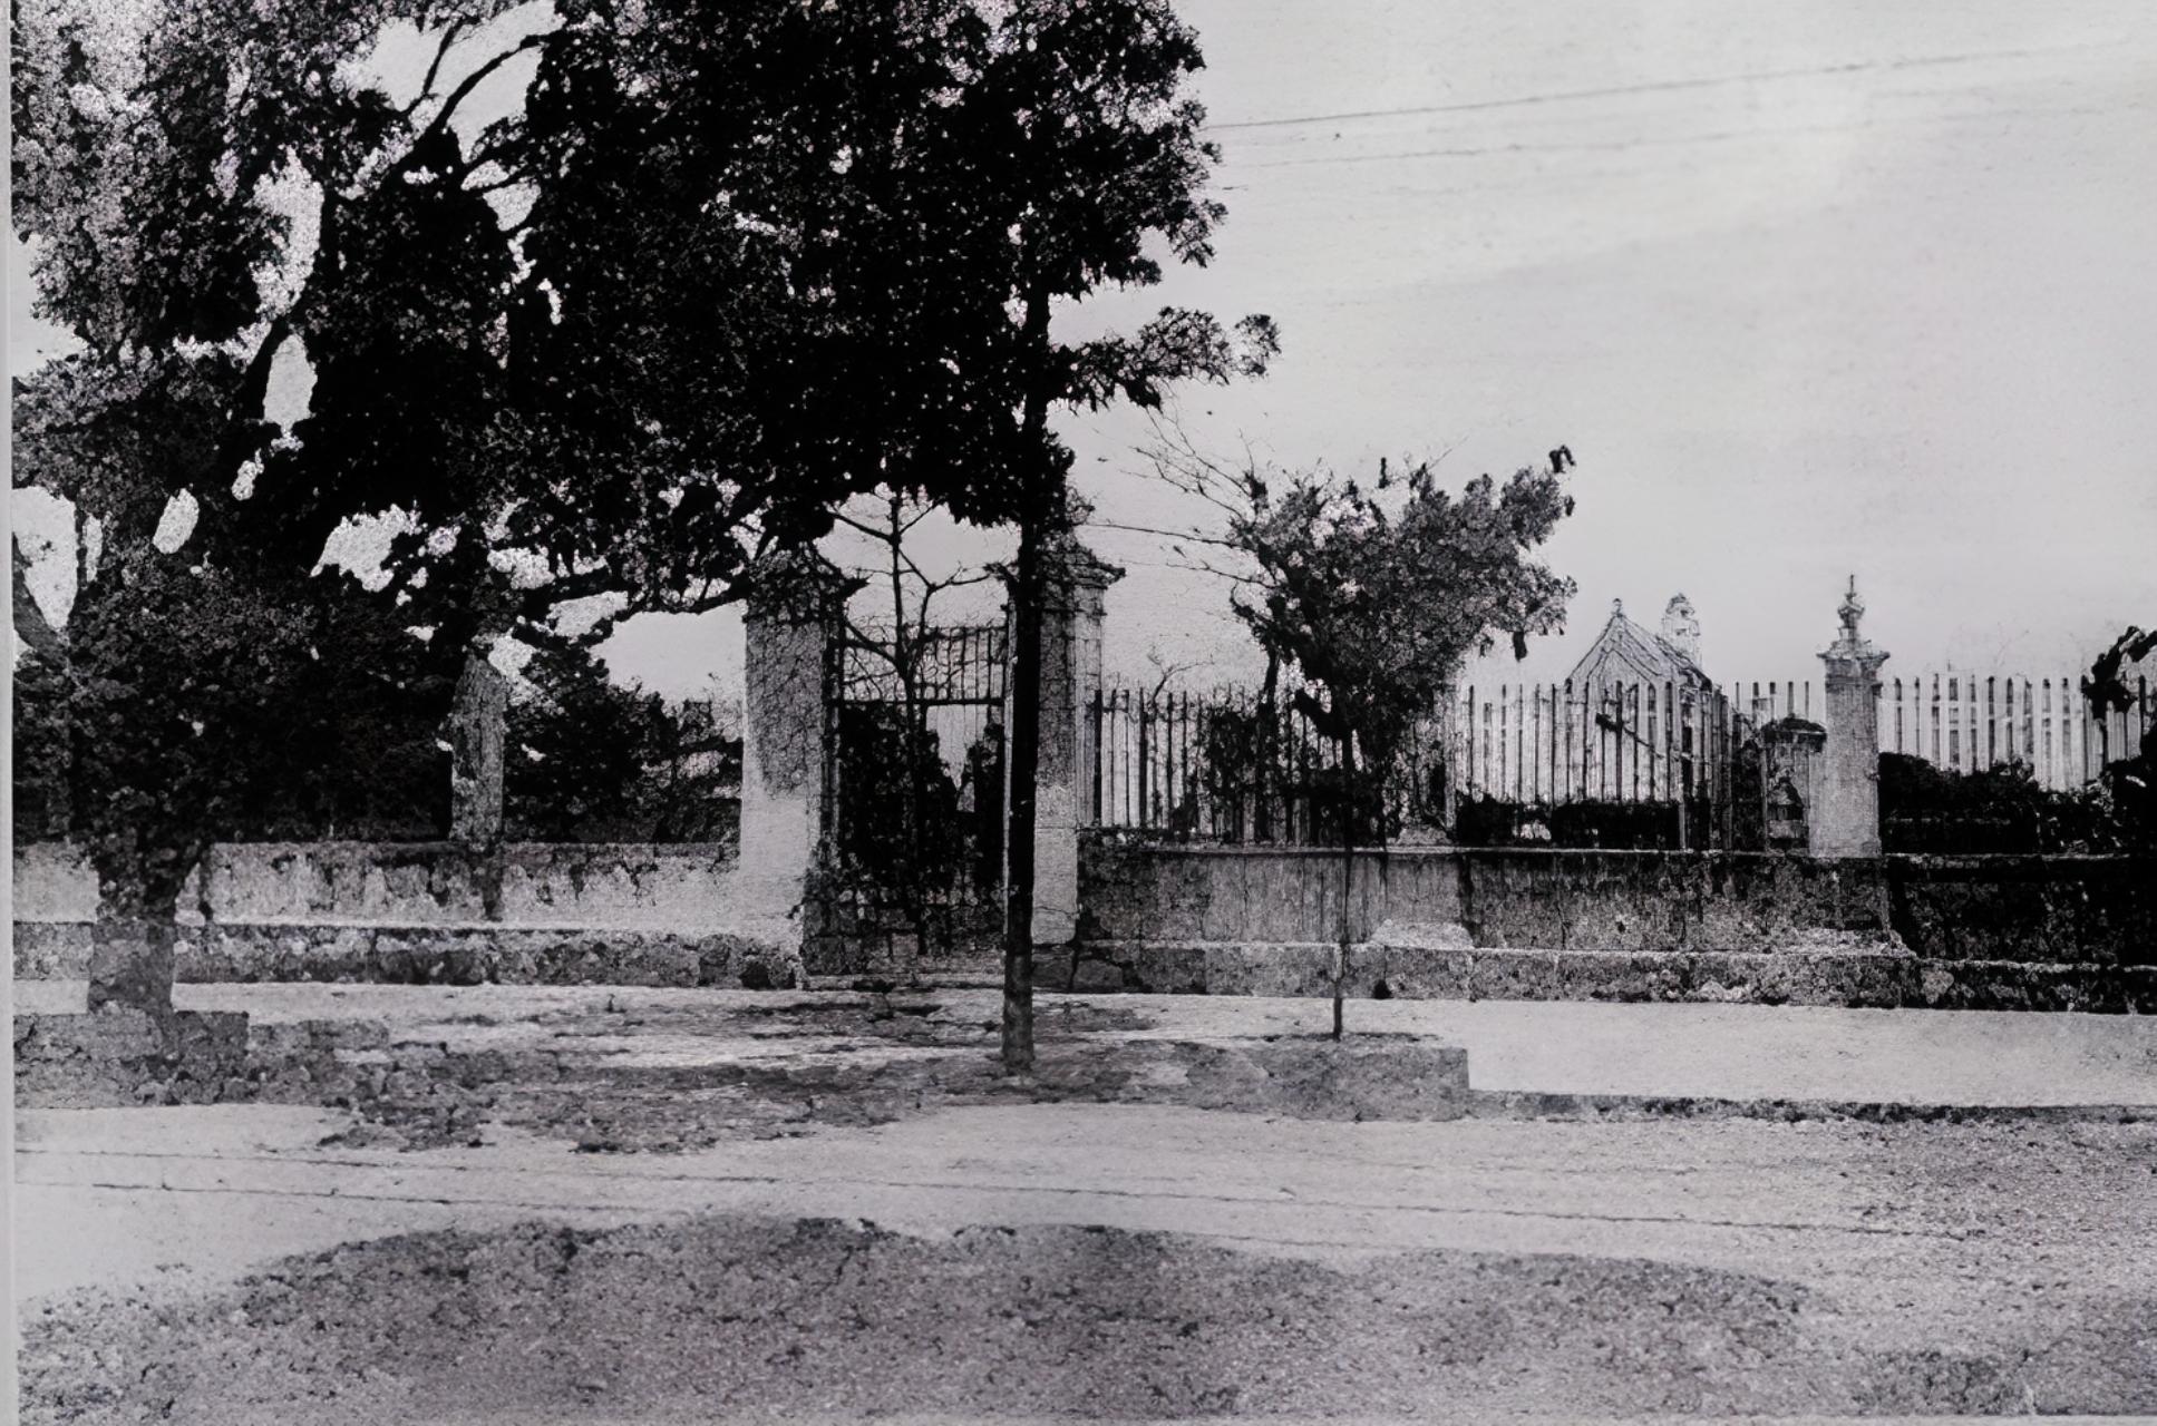
[[[2140,746],[2157,714],[2148,677],[2129,677],[2129,693],[2131,708],[2099,716],[2066,675],[1887,677],[1881,751],[1952,772],[2019,762],[2045,787],[2073,790]],[[1734,846],[1741,824],[1764,818],[1758,731],[1825,716],[1825,688],[1812,680],[1462,686],[1417,727],[1387,796],[1424,826],[1452,826],[1460,805],[1478,800],[1665,805],[1678,846]],[[1318,785],[1339,751],[1288,693],[1266,703],[1249,688],[1109,688],[1094,697],[1087,727],[1098,826],[1212,841],[1322,839]]]

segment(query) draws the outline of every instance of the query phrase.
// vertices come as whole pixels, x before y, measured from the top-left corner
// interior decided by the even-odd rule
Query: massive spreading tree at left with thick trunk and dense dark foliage
[[[397,26],[434,56],[393,97]],[[852,490],[1012,464],[1001,287],[951,229],[962,0],[26,0],[13,37],[15,222],[82,343],[17,390],[17,481],[101,546],[65,664],[78,725],[129,729],[75,740],[114,945],[170,943],[242,733],[349,656],[296,611],[352,520],[397,531],[377,593],[446,688],[503,634],[738,598]]]

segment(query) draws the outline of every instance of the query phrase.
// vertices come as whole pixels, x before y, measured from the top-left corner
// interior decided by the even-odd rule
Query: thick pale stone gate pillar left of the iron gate
[[[768,557],[742,611],[742,932],[798,951],[824,833],[830,636],[854,585],[815,550]]]

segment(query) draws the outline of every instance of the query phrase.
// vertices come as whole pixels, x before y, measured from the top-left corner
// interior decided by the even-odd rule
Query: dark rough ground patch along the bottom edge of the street
[[[1821,1294],[1698,1266],[1417,1251],[1350,1264],[1173,1234],[710,1217],[423,1234],[209,1301],[26,1322],[28,1422],[1995,1413],[2157,1404],[2157,1303],[2017,1350],[1868,1348]]]

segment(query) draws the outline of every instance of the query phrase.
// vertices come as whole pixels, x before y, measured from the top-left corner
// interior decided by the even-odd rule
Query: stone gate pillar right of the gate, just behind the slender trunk
[[[1100,693],[1102,604],[1124,572],[1070,535],[1042,550],[1042,753],[1033,803],[1033,945],[1078,930],[1078,831],[1094,822],[1091,710]],[[1016,623],[1014,623],[1016,628]],[[1009,727],[1009,718],[1005,718]],[[1009,807],[1009,790],[1005,790]]]

